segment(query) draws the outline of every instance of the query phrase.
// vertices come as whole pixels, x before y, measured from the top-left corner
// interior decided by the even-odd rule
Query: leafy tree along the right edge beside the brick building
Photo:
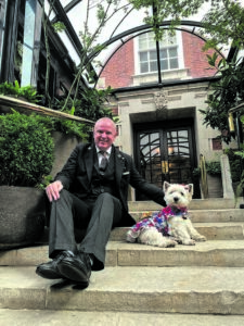
[[[208,34],[208,41],[205,49],[214,48],[221,43],[232,46],[235,55],[229,62],[217,54],[208,57],[210,66],[217,68],[218,82],[210,84],[210,93],[207,99],[207,110],[201,110],[204,115],[204,124],[221,133],[221,138],[227,143],[233,136],[229,130],[228,113],[233,106],[244,102],[244,58],[237,59],[239,50],[244,46],[244,8],[241,1],[216,1],[215,7],[205,15],[205,34]]]

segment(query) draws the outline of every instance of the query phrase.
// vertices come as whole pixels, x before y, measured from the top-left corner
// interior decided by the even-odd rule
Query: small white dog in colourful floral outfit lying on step
[[[138,240],[140,243],[157,247],[175,247],[177,242],[192,246],[195,241],[206,241],[188,216],[193,185],[170,185],[165,181],[164,192],[167,206],[132,226],[127,233],[127,241]]]

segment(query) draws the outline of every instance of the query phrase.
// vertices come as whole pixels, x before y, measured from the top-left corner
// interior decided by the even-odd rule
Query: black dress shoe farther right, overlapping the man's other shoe
[[[57,269],[63,278],[88,285],[91,276],[91,261],[89,254],[79,252],[75,256],[64,258],[57,263]]]

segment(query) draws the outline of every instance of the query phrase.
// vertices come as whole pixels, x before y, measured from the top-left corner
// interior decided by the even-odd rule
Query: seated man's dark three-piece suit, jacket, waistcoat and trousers
[[[145,181],[131,156],[114,146],[108,166],[102,173],[95,146],[78,145],[55,180],[61,180],[64,189],[50,208],[49,255],[54,258],[61,250],[90,253],[94,258],[93,271],[104,268],[111,229],[134,224],[128,213],[129,185],[165,205],[162,189]],[[86,233],[78,239],[80,230]]]

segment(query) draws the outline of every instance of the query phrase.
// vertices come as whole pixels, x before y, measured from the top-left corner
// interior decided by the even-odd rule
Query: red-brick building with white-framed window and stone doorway
[[[202,197],[193,175],[201,154],[219,160],[224,147],[218,131],[203,125],[200,113],[216,74],[206,55],[214,51],[204,52],[203,46],[191,30],[177,30],[175,36],[166,30],[158,63],[152,32],[128,36],[107,57],[98,84],[114,89],[113,108],[120,120],[116,145],[134,158],[140,173],[158,187],[165,179],[193,183],[195,198]],[[131,199],[146,198],[131,190]]]

